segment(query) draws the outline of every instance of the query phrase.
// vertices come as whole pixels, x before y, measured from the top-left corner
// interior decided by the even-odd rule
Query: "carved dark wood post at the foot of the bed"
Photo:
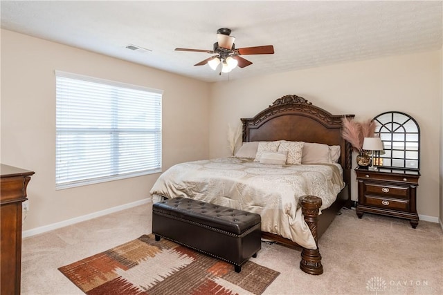
[[[316,196],[304,196],[300,198],[300,204],[305,221],[317,245],[317,249],[306,249],[302,247],[300,269],[307,274],[323,274],[317,235],[318,212],[320,211],[322,202],[321,199]]]

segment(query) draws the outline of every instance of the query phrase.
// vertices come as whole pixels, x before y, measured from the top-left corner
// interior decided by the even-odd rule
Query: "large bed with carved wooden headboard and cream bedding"
[[[153,200],[195,198],[260,213],[263,238],[301,249],[300,269],[322,274],[318,238],[350,207],[352,148],[341,136],[343,116],[354,117],[332,115],[297,95],[280,97],[241,119],[243,153],[172,166],[152,187]],[[255,145],[256,158],[245,158]],[[340,152],[328,163],[301,162],[314,145]]]

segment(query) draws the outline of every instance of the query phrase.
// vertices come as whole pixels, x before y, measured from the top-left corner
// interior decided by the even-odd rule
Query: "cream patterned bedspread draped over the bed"
[[[150,193],[185,197],[259,213],[262,231],[316,249],[298,205],[300,196],[318,196],[329,207],[343,189],[340,169],[333,164],[271,165],[242,158],[186,162],[162,173]]]

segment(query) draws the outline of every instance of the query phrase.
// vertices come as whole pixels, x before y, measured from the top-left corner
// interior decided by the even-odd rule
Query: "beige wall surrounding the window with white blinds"
[[[208,158],[209,84],[1,30],[1,162],[35,171],[25,230],[147,198],[159,175],[55,191],[54,70],[163,89],[163,170]]]

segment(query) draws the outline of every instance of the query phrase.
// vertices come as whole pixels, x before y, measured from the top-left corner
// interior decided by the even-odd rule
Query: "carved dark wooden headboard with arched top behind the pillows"
[[[343,178],[350,183],[352,148],[341,136],[342,118],[354,115],[332,115],[303,97],[284,95],[252,118],[242,118],[243,141],[289,140],[317,142],[341,147]]]

